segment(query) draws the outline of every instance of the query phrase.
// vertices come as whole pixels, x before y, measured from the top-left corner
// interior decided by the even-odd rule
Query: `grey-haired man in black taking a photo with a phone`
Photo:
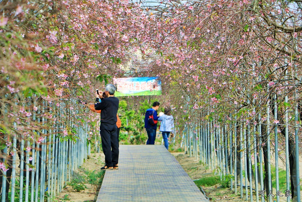
[[[95,110],[101,110],[100,134],[102,148],[105,154],[105,166],[101,170],[118,169],[118,141],[117,141],[117,109],[119,100],[114,97],[115,86],[107,84],[103,98],[103,92],[96,93]]]

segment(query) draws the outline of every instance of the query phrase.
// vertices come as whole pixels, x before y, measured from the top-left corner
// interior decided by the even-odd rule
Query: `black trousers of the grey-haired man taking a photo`
[[[101,123],[100,134],[107,167],[118,164],[119,149],[116,132],[116,124]]]

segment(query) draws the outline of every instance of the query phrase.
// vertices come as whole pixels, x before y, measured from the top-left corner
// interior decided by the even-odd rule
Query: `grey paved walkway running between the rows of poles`
[[[208,200],[164,145],[120,145],[119,169],[106,171],[100,201]]]

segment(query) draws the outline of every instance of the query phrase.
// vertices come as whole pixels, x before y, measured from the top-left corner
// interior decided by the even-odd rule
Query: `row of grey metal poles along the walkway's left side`
[[[47,120],[43,114],[50,107],[53,111],[48,112],[53,117]],[[8,165],[8,171],[2,171],[0,179],[1,202],[8,201],[8,192],[11,193],[11,202],[38,202],[46,200],[45,197],[48,202],[52,201],[66,183],[72,180],[73,172],[83,165],[87,155],[90,155],[90,144],[87,144],[89,126],[77,120],[81,118],[79,111],[67,108],[64,102],[56,107],[43,101],[37,111],[31,113],[33,121],[42,128],[33,131],[37,136],[36,141],[22,135],[13,135],[11,146],[1,151],[1,160]],[[65,124],[70,127],[68,134],[63,134],[63,117]],[[16,122],[13,127],[17,130]],[[2,135],[10,142],[10,137]],[[18,155],[20,173],[17,173],[16,168]],[[16,179],[20,179],[18,187]],[[16,190],[19,190],[19,194]]]

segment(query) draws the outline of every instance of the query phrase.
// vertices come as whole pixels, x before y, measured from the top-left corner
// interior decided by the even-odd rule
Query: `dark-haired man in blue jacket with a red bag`
[[[149,116],[151,116],[152,114],[153,114],[154,121],[158,120],[158,118],[159,118],[157,116],[158,108],[159,108],[159,102],[154,102],[152,105],[152,108],[147,109],[146,114],[145,114],[145,128],[146,128],[147,135],[148,135],[147,144],[155,143],[157,124],[151,125],[148,120],[149,120]]]

